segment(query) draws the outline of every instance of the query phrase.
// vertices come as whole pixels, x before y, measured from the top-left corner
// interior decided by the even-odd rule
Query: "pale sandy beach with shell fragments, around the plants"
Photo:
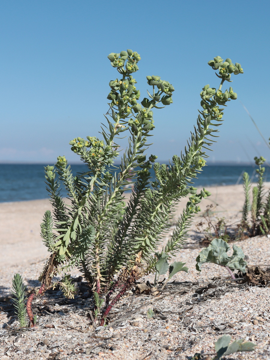
[[[270,183],[267,183],[266,189],[269,187]],[[174,279],[178,282],[192,282],[196,283],[197,286],[200,287],[211,283],[210,279],[214,276],[220,276],[221,279],[225,279],[227,277],[225,269],[213,264],[206,264],[204,271],[201,273],[198,273],[198,271],[195,270],[195,258],[197,257],[200,248],[196,246],[194,247],[194,244],[196,244],[195,238],[198,236],[199,231],[197,224],[202,221],[201,215],[203,211],[205,211],[207,205],[213,204],[212,211],[214,211],[214,217],[225,217],[227,224],[237,223],[237,221],[241,219],[241,210],[244,201],[242,185],[217,186],[207,189],[211,191],[212,195],[200,204],[202,212],[195,216],[194,223],[190,231],[190,238],[188,239],[187,245],[189,246],[182,249],[176,257],[177,261],[186,262],[186,266],[189,267],[189,273],[186,274],[181,272],[174,277]],[[179,204],[176,216],[180,215],[185,203],[186,201],[183,201]],[[32,289],[33,287],[37,287],[39,285],[37,278],[43,268],[46,258],[48,257],[48,252],[42,244],[42,239],[40,237],[40,222],[44,212],[50,208],[51,206],[48,199],[0,204],[0,297],[2,296],[2,300],[3,297],[10,295],[12,277],[17,272],[23,276],[24,283],[28,288]],[[238,242],[237,245],[241,246],[244,253],[248,256],[249,265],[270,264],[270,239],[266,236],[246,239]],[[76,277],[78,275],[80,275],[79,270],[74,269],[72,271],[72,276]],[[152,276],[148,276],[148,279],[151,281]],[[211,352],[213,353],[214,341],[216,341],[222,334],[228,333],[234,339],[245,338],[246,340],[254,341],[258,345],[255,352],[241,353],[240,355],[235,354],[233,355],[233,359],[270,358],[269,287],[253,287],[251,290],[247,288],[246,290],[241,290],[241,292],[231,292],[228,290],[227,292],[222,293],[222,296],[218,296],[216,300],[210,301],[211,299],[209,299],[208,302],[201,303],[191,300],[193,293],[194,288],[190,288],[186,291],[186,294],[184,292],[181,296],[172,294],[171,297],[166,297],[159,303],[160,305],[158,305],[160,309],[164,310],[166,308],[169,312],[171,309],[181,308],[183,310],[184,307],[185,309],[193,307],[193,310],[189,310],[190,312],[188,315],[189,320],[194,320],[192,320],[193,325],[189,325],[189,327],[184,326],[184,322],[182,321],[184,318],[181,320],[178,313],[178,320],[177,316],[175,317],[174,315],[170,315],[166,321],[160,318],[157,318],[157,320],[152,319],[150,321],[150,319],[147,319],[147,316],[145,315],[147,309],[149,308],[148,304],[145,305],[145,308],[140,309],[135,316],[117,323],[115,326],[110,327],[110,330],[102,330],[101,334],[99,334],[100,338],[109,338],[108,335],[112,335],[117,340],[115,340],[116,347],[114,350],[107,349],[105,351],[103,346],[103,350],[100,350],[102,353],[101,355],[87,350],[90,347],[92,348],[95,343],[100,343],[100,341],[96,340],[95,337],[91,335],[93,334],[93,326],[90,325],[90,321],[87,319],[85,312],[83,313],[80,311],[78,313],[78,309],[75,309],[74,306],[72,307],[71,305],[69,307],[69,305],[66,305],[65,307],[68,307],[70,311],[68,311],[68,313],[64,313],[64,310],[62,309],[63,306],[61,307],[59,304],[55,304],[55,306],[60,306],[60,309],[58,309],[55,314],[59,313],[64,314],[65,316],[59,315],[58,318],[56,318],[55,316],[57,315],[47,315],[48,319],[46,322],[47,324],[53,323],[53,329],[46,328],[45,325],[40,325],[39,328],[36,329],[35,334],[33,334],[33,332],[25,333],[26,335],[21,338],[20,345],[18,345],[17,348],[13,345],[8,352],[5,350],[1,353],[0,350],[0,355],[3,356],[3,359],[9,359],[10,357],[13,357],[13,359],[48,358],[54,350],[49,349],[49,346],[47,346],[46,349],[45,347],[41,348],[38,343],[40,343],[42,339],[48,339],[48,336],[50,336],[49,342],[51,346],[53,346],[53,343],[58,344],[61,341],[66,344],[65,346],[62,346],[63,351],[60,353],[60,348],[58,348],[58,350],[55,349],[55,351],[58,351],[58,354],[62,354],[62,357],[55,357],[55,359],[92,359],[94,357],[98,357],[102,359],[135,360],[143,359],[144,356],[151,351],[151,356],[147,359],[187,359],[186,356],[192,356],[195,352],[199,352],[202,349],[204,349],[206,353],[207,351],[209,354]],[[129,306],[132,295],[133,294],[130,292],[120,301],[117,306],[118,311],[120,311],[121,306],[122,309],[126,309],[126,306]],[[135,296],[134,299],[132,297],[132,307],[136,307],[137,305],[139,306],[141,301],[145,301],[145,303],[146,300],[151,302],[152,298],[149,298],[149,296],[143,297],[142,295],[138,297]],[[48,300],[44,297],[38,301],[40,305],[42,305],[42,301],[44,301],[44,305]],[[124,306],[124,304],[126,305]],[[157,306],[157,304],[155,304],[155,306]],[[83,308],[83,306],[81,307]],[[173,313],[174,311],[172,311],[172,314]],[[10,324],[4,325],[4,329],[2,329],[3,335],[3,332],[7,331],[5,326],[12,326],[12,321],[10,322],[7,312],[4,310],[1,311],[0,314],[0,328],[3,327],[3,324]],[[198,318],[199,315],[200,317]],[[259,320],[256,320],[256,317]],[[75,318],[77,319],[76,321]],[[41,317],[41,319],[43,322],[45,318]],[[179,319],[181,321],[179,321]],[[234,324],[231,329],[228,328],[230,330],[227,332],[222,330],[212,330],[214,326],[212,324],[213,321],[216,321],[216,324],[224,324],[226,322],[225,320]],[[240,320],[243,320],[242,323]],[[80,331],[73,326],[74,324],[72,325],[73,330],[67,328],[67,326],[71,326],[68,324],[72,321],[73,323],[75,321],[80,324]],[[212,324],[212,328],[207,328],[209,323]],[[198,324],[201,326],[200,329],[198,328]],[[218,325],[216,326],[218,329]],[[67,331],[70,334],[70,337],[68,338],[66,338]],[[144,339],[146,336],[145,334],[147,336],[149,335],[149,337],[147,337],[147,345],[144,345],[146,344]],[[89,337],[91,339],[89,339]],[[36,341],[36,338],[39,338],[39,341]],[[82,348],[82,352],[77,355],[75,355],[76,351],[73,349],[75,346],[74,338],[76,338],[76,343],[80,344]],[[121,338],[122,340],[120,341]],[[150,338],[158,340],[151,341]],[[13,340],[11,339],[10,341]],[[106,343],[109,343],[109,340]],[[118,343],[119,346],[117,345]],[[184,346],[183,344],[189,345]],[[34,350],[32,352],[27,351],[27,346],[28,348],[31,347]],[[168,348],[168,346],[171,346],[172,350]],[[18,348],[20,350],[18,350]],[[179,350],[180,348],[182,351]],[[73,349],[73,353],[71,352],[71,349]],[[176,351],[176,349],[178,350]],[[18,351],[21,352],[18,353]]]

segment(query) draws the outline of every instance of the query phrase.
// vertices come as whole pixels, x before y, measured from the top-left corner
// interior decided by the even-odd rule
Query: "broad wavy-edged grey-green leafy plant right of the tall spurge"
[[[232,279],[235,279],[233,274],[234,270],[240,270],[244,273],[246,268],[246,261],[244,261],[243,250],[236,245],[233,245],[233,255],[228,256],[227,252],[230,246],[222,239],[213,239],[207,248],[203,248],[196,258],[196,269],[201,271],[201,266],[205,262],[212,262],[213,264],[225,267],[231,275]]]

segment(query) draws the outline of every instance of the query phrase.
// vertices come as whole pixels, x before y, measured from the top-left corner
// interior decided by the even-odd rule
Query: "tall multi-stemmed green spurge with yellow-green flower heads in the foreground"
[[[45,167],[53,214],[45,212],[41,235],[51,256],[40,276],[40,290],[28,299],[32,326],[32,300],[51,286],[54,275],[73,266],[80,267],[94,293],[95,317],[103,311],[100,325],[104,325],[112,306],[135,280],[158,271],[157,263],[163,254],[168,263],[181,248],[192,217],[200,210],[199,202],[210,195],[206,190],[197,193],[192,180],[202,171],[207,158],[205,150],[212,145],[216,127],[221,125],[224,108],[220,106],[237,98],[231,87],[222,91],[222,85],[231,81],[232,74],[243,73],[240,64],[233,64],[230,59],[216,57],[208,62],[218,72],[220,85],[203,87],[197,126],[184,151],[166,165],[155,162],[155,155],[147,158],[145,152],[155,127],[154,111],[172,103],[174,86],[159,76],[147,76],[148,96],[140,101],[140,90],[133,77],[139,69],[140,55],[127,50],[111,53],[108,59],[118,78],[109,82],[109,111],[101,126],[102,138],[78,137],[69,142],[88,170],[73,175],[64,156],[58,157],[55,166]],[[128,146],[119,159],[117,142],[125,135]],[[117,162],[120,162],[118,172],[114,165]],[[152,167],[154,179],[150,175]],[[123,195],[130,179],[134,188],[129,202],[125,203]],[[61,197],[60,184],[71,202]],[[186,196],[189,196],[186,208],[167,244],[158,252],[176,206]],[[183,265],[171,264],[170,274],[175,274],[176,269],[185,271]],[[67,274],[64,278],[68,279]],[[64,279],[62,287],[68,293]],[[101,296],[106,296],[103,310],[98,299]]]

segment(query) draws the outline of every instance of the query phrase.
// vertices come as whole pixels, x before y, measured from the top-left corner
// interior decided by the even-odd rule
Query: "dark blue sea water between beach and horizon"
[[[87,171],[86,165],[71,165],[71,168],[73,175]],[[255,167],[209,165],[194,183],[195,186],[241,184],[244,171],[256,182]],[[44,165],[0,164],[0,202],[48,198],[44,180]],[[266,167],[266,181],[270,181],[269,167]]]

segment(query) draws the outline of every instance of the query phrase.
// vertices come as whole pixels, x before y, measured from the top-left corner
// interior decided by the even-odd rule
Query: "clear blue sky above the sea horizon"
[[[51,164],[59,155],[78,161],[69,140],[98,136],[108,83],[118,74],[107,55],[126,49],[141,55],[134,76],[141,99],[147,75],[175,87],[174,103],[154,112],[149,153],[159,160],[180,154],[196,122],[202,87],[219,85],[207,65],[219,55],[241,63],[244,74],[233,76],[238,99],[224,111],[209,162],[270,159],[241,104],[268,139],[269,10],[269,1],[247,0],[2,0],[0,162]]]

